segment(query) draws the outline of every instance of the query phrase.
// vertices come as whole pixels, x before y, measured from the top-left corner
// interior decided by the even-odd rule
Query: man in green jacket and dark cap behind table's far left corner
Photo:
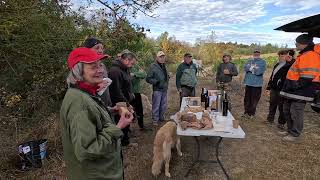
[[[177,68],[176,86],[180,94],[180,104],[182,97],[194,97],[197,85],[197,67],[192,62],[192,55],[185,53],[183,62]]]

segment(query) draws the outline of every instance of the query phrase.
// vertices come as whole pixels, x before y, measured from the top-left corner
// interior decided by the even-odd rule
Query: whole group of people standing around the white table
[[[296,39],[299,55],[293,50],[279,51],[279,62],[273,68],[267,92],[270,93],[268,123],[273,123],[278,107],[280,129],[287,140],[298,137],[303,128],[303,110],[312,101],[320,81],[320,55],[313,51],[312,37],[303,34]],[[69,179],[123,179],[122,146],[137,146],[130,142],[130,124],[138,120],[145,131],[141,100],[141,80],[152,85],[152,120],[158,126],[165,120],[169,73],[166,54],[159,51],[145,72],[137,57],[129,50],[117,54],[110,69],[102,63],[111,56],[104,54],[101,41],[88,38],[83,47],[74,49],[67,60],[68,90],[60,110],[64,159]],[[238,70],[225,54],[218,66],[216,81],[227,86]],[[255,50],[253,58],[244,65],[244,117],[252,118],[262,93],[266,62]],[[195,96],[197,67],[192,54],[185,53],[176,73],[176,88],[182,97]],[[125,103],[127,111],[120,111]]]

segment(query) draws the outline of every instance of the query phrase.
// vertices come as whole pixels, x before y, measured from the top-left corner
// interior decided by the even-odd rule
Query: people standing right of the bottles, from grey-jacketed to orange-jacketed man
[[[267,83],[266,94],[270,98],[269,113],[266,123],[273,124],[278,108],[277,127],[279,134],[286,141],[296,141],[303,130],[304,108],[307,102],[314,100],[315,91],[320,87],[320,51],[319,44],[315,45],[313,37],[301,34],[296,38],[295,59],[293,49],[278,52],[279,62],[273,67]],[[260,58],[260,50],[253,52],[253,58],[244,65],[244,114],[242,117],[253,119],[263,89],[263,75],[266,62]],[[238,74],[230,55],[223,56],[223,63],[217,69],[217,83],[226,85],[232,76]],[[287,128],[285,124],[287,123]]]

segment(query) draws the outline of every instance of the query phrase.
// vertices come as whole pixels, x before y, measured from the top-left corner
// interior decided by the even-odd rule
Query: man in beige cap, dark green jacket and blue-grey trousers
[[[169,75],[165,65],[166,56],[163,51],[157,53],[154,63],[149,67],[146,81],[152,84],[152,120],[155,126],[164,121],[167,111],[167,90]]]

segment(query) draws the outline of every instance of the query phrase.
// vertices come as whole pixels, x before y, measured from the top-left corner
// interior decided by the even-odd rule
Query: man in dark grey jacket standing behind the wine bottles
[[[224,54],[222,56],[222,63],[219,64],[217,68],[216,82],[219,89],[220,86],[228,86],[228,83],[232,81],[232,77],[238,75],[237,67],[230,61],[231,56],[229,54]],[[226,87],[224,87],[223,89],[225,88]]]

